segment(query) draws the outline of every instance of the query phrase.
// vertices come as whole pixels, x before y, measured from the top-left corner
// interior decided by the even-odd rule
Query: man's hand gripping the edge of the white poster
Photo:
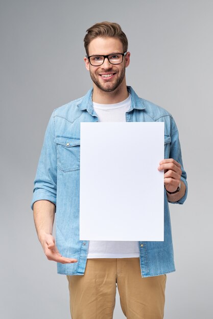
[[[181,166],[173,158],[163,159],[158,167],[158,171],[164,170],[164,186],[169,192],[175,192],[180,183],[182,174]]]

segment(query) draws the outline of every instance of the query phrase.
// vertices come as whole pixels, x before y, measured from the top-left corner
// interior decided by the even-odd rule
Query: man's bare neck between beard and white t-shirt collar
[[[126,81],[122,82],[122,84],[112,92],[105,92],[99,89],[95,84],[93,84],[93,102],[99,104],[115,104],[124,101],[128,98],[129,93],[127,91]]]

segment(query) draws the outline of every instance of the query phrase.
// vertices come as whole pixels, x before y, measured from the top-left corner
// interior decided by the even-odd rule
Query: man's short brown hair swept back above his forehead
[[[89,43],[98,37],[115,37],[119,39],[123,44],[124,52],[127,51],[128,48],[128,40],[126,34],[122,31],[121,26],[114,22],[99,22],[92,25],[89,29],[87,29],[87,34],[84,37],[84,47],[86,50],[86,54],[88,55],[88,45]]]

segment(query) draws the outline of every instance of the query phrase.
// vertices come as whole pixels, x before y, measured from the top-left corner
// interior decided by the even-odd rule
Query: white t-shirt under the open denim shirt
[[[131,94],[120,103],[99,104],[93,102],[94,111],[100,122],[126,122],[126,112],[130,109],[130,105]],[[87,258],[131,257],[139,257],[138,242],[89,241]]]

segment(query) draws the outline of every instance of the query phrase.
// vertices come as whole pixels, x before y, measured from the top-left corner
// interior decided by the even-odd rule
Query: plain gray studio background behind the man
[[[127,84],[174,116],[188,174],[186,203],[171,205],[164,318],[212,318],[212,0],[1,0],[0,15],[1,317],[69,318],[66,277],[37,241],[33,179],[53,109],[91,87],[85,31],[109,20],[129,39]]]

